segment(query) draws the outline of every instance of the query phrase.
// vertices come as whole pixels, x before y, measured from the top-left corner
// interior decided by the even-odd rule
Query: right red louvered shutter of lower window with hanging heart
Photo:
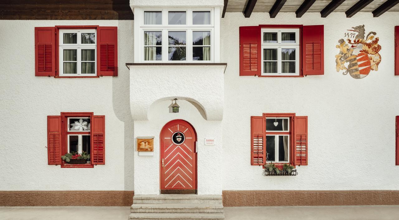
[[[308,165],[308,116],[296,116],[294,124],[294,165]]]

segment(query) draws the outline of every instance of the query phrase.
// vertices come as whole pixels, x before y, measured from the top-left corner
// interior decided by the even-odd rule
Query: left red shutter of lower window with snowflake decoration
[[[61,165],[61,116],[47,116],[47,159],[49,165]]]

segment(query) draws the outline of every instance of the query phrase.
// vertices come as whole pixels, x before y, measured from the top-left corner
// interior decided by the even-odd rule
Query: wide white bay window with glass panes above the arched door
[[[214,8],[137,9],[135,13],[140,62],[211,63],[219,59],[215,57]]]

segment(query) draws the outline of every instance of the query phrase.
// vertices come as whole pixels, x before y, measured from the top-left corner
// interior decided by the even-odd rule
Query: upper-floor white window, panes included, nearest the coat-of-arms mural
[[[299,29],[263,28],[262,75],[299,75]]]

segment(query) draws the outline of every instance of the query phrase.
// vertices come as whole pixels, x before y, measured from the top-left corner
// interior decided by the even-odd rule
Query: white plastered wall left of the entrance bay
[[[35,77],[35,27],[118,26],[118,77]],[[129,71],[133,21],[2,20],[0,22],[0,191],[133,190],[133,120]],[[105,165],[47,165],[47,116],[105,115]]]

